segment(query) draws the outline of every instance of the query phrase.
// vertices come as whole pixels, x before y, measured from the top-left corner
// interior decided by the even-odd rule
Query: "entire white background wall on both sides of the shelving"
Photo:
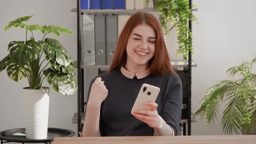
[[[198,25],[193,23],[195,53],[192,59],[198,64],[197,68],[192,69],[192,112],[195,112],[207,88],[227,79],[226,69],[239,65],[243,59],[252,59],[256,52],[253,43],[256,33],[256,1],[193,0],[193,3],[198,7],[194,14],[199,21]],[[7,56],[10,41],[25,38],[23,29],[13,28],[5,32],[4,26],[17,17],[35,14],[30,24],[63,26],[73,31],[73,35],[49,37],[59,39],[73,60],[76,60],[76,13],[70,12],[75,7],[76,0],[0,0],[0,59]],[[171,34],[166,38],[167,46],[171,59],[177,59],[174,48],[177,46],[176,34]],[[36,33],[36,36],[42,38],[40,33]],[[46,81],[43,85],[49,86]],[[21,88],[25,86],[28,86],[26,79],[19,83],[12,82],[5,70],[0,73],[0,131],[24,127]],[[71,121],[77,111],[77,94],[68,98],[53,89],[50,92],[49,127],[67,128],[76,132],[77,124]],[[192,135],[222,134],[219,122],[210,128],[206,128],[204,121],[193,123],[191,130]]]

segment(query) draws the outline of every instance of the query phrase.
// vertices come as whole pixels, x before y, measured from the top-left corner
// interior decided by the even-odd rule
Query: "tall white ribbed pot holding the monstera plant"
[[[26,138],[47,138],[49,114],[49,88],[23,88]]]

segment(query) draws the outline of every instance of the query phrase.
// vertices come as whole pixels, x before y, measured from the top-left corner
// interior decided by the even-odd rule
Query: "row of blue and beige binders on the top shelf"
[[[143,9],[143,0],[80,0],[81,10]]]

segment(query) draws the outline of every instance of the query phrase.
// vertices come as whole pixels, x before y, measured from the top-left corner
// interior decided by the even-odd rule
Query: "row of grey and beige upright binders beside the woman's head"
[[[84,65],[110,65],[118,36],[129,15],[83,15],[82,48]]]

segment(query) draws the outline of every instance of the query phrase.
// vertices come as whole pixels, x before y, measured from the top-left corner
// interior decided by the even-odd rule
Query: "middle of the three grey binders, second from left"
[[[106,65],[105,15],[94,16],[95,24],[95,65]]]

